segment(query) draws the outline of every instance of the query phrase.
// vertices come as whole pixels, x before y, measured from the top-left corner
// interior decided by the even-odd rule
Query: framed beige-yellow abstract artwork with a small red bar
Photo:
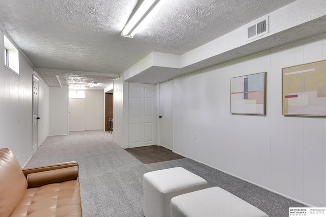
[[[282,114],[326,116],[326,60],[282,69]]]

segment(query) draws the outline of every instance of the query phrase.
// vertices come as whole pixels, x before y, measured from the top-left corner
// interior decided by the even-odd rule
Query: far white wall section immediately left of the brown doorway
[[[86,90],[86,130],[104,130],[104,91]]]

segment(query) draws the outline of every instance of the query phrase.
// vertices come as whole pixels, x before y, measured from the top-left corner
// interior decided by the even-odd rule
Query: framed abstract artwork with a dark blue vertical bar
[[[230,113],[266,115],[266,72],[231,78]]]

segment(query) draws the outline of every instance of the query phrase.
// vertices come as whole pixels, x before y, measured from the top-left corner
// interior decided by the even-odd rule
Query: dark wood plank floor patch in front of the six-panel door
[[[158,146],[158,145],[151,145],[145,147],[137,147],[137,148],[126,148],[133,157],[140,160],[143,164],[151,164],[157,163],[162,161],[171,161],[171,160],[178,160],[184,157],[180,156],[172,152],[171,150]]]

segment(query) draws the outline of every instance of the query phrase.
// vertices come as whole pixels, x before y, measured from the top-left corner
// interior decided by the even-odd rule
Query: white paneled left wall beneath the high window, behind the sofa
[[[0,48],[3,47],[0,26]],[[0,52],[0,60],[4,58],[4,52]],[[32,156],[33,67],[20,52],[19,69],[17,75],[3,65],[0,67],[0,148],[10,148],[23,166]],[[46,86],[43,87],[46,89]],[[47,125],[45,120],[43,126]]]

